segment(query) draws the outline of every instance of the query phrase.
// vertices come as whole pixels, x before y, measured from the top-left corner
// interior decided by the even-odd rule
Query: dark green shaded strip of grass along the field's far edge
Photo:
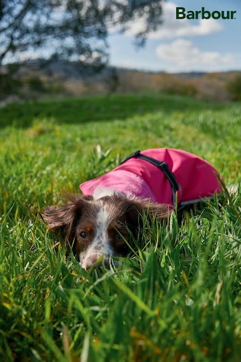
[[[28,128],[36,119],[52,118],[57,123],[87,123],[127,119],[152,112],[191,112],[227,107],[218,103],[165,94],[114,94],[102,97],[50,99],[12,103],[0,108],[0,128]]]

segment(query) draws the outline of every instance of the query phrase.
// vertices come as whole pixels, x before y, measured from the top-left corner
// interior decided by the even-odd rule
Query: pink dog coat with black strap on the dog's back
[[[154,203],[179,205],[211,198],[222,187],[218,171],[194,154],[173,148],[154,148],[131,154],[117,168],[81,183],[83,194],[109,188],[150,199]]]

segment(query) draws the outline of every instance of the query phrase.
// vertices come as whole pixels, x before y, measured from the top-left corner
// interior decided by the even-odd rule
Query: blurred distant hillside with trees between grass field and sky
[[[235,79],[241,79],[241,72],[169,74],[39,59],[1,66],[0,100],[154,91],[227,101],[238,99],[230,87]]]

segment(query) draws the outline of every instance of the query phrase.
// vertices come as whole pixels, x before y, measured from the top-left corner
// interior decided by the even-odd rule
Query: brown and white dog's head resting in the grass
[[[143,230],[144,213],[159,219],[168,213],[165,205],[118,194],[69,199],[61,208],[45,208],[43,219],[50,230],[60,230],[67,243],[74,244],[74,252],[85,270],[95,263],[104,262],[108,267],[109,257],[126,257],[132,238],[138,240]]]

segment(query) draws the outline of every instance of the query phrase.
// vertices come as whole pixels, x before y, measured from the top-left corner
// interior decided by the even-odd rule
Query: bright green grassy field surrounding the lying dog
[[[92,273],[39,212],[138,149],[185,149],[238,183],[241,103],[29,101],[0,108],[0,126],[1,361],[240,361],[240,189],[179,226],[153,222],[143,250]]]

